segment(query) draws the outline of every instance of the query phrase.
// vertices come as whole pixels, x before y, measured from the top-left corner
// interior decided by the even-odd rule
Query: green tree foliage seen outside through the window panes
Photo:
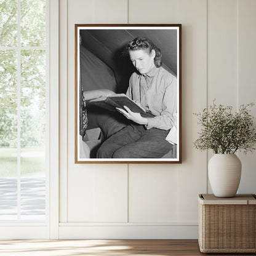
[[[46,46],[45,6],[44,0],[20,1],[22,47]],[[18,42],[17,9],[17,0],[0,0],[0,47],[6,47],[0,48],[0,146],[17,146],[18,88],[21,145],[38,146],[45,133],[46,51],[8,49]]]

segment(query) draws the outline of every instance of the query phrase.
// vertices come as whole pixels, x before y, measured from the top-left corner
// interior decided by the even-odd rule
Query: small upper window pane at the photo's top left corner
[[[0,46],[17,46],[17,0],[0,0]]]

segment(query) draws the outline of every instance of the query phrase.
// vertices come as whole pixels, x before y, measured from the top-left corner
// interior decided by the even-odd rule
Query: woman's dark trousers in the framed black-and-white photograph
[[[129,124],[103,142],[97,158],[162,158],[172,148],[166,140],[168,132]]]

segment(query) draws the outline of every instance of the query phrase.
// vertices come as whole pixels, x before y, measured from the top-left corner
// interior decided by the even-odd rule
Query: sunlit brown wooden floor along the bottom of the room
[[[255,255],[202,254],[197,240],[0,240],[1,256]]]

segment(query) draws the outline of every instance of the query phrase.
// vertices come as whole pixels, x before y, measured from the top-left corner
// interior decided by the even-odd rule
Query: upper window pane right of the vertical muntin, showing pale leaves
[[[22,46],[46,45],[46,1],[21,0]]]

